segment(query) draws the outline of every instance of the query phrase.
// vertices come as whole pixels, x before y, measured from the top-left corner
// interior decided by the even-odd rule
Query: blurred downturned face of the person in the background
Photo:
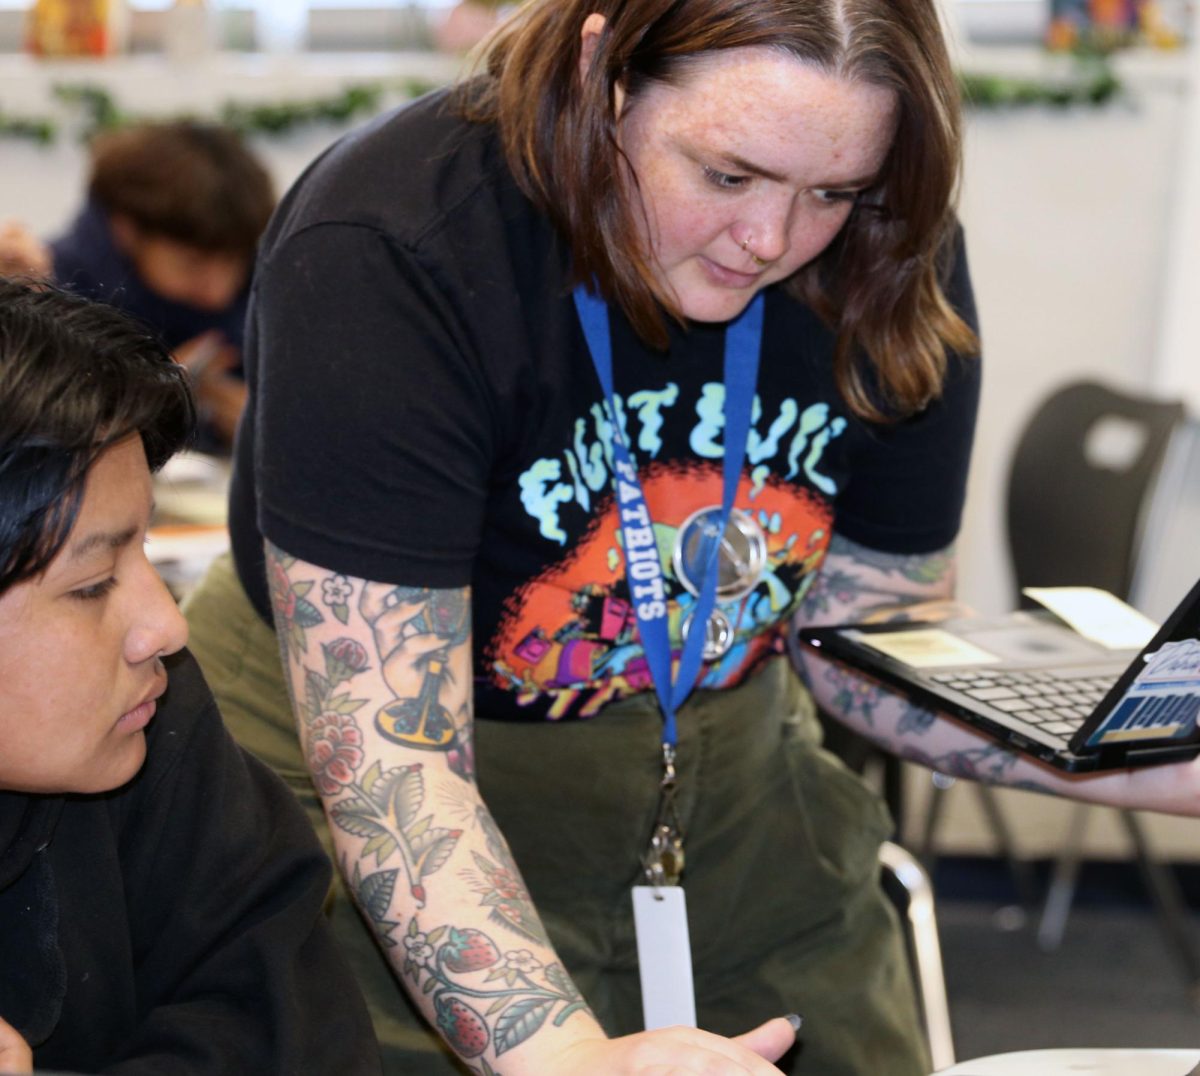
[[[246,284],[250,266],[236,254],[204,251],[130,227],[116,235],[142,282],[163,299],[220,312]]]

